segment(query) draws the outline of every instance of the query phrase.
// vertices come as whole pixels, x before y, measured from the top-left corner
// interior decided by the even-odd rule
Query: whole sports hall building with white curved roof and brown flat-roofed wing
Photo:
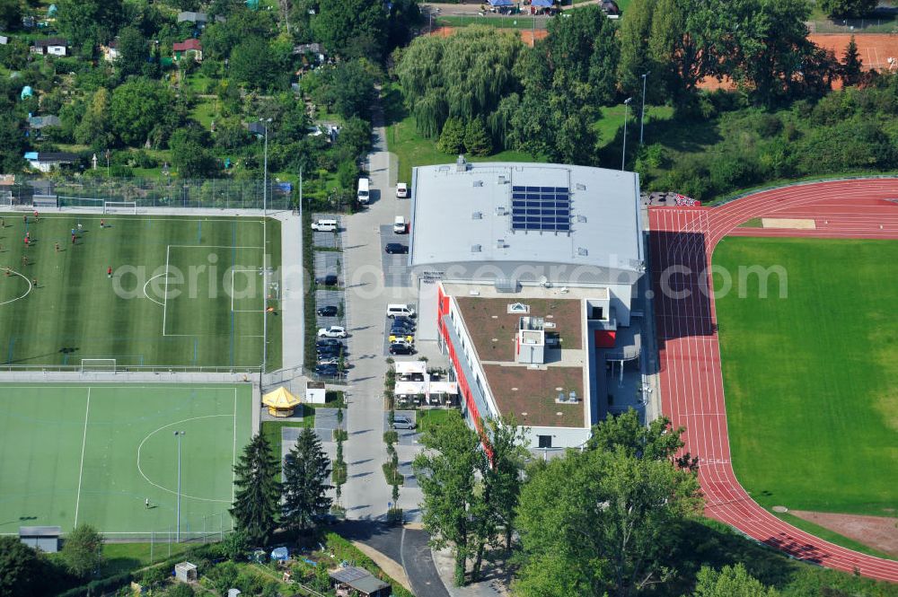
[[[471,425],[512,413],[533,448],[585,443],[640,352],[638,175],[460,156],[411,185],[418,338],[449,357]]]

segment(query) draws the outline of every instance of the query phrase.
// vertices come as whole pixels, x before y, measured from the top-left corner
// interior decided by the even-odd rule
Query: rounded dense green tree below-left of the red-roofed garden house
[[[110,102],[113,130],[125,145],[141,145],[154,128],[170,124],[172,103],[171,92],[161,83],[144,77],[122,83]]]

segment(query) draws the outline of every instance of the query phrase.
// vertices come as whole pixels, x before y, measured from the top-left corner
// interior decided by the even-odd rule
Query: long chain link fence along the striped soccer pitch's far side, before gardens
[[[289,182],[230,179],[37,179],[16,177],[9,189],[12,206],[31,206],[37,196],[56,198],[60,207],[98,207],[106,202],[134,202],[141,207],[206,209],[291,209]]]

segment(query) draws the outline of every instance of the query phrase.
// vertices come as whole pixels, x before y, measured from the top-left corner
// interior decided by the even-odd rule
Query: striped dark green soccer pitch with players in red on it
[[[37,222],[29,214],[28,224],[22,213],[3,218],[0,368],[112,358],[118,368],[262,363],[265,309],[278,307],[277,221],[265,224],[263,248],[261,218],[48,213]],[[274,369],[280,322],[275,314],[268,318]]]

